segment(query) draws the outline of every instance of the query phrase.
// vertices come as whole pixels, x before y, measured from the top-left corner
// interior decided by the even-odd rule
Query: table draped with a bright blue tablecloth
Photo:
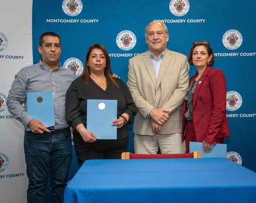
[[[256,173],[225,158],[88,160],[64,202],[255,202]]]

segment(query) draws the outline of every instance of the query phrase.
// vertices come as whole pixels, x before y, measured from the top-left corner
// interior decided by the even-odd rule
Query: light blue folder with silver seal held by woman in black
[[[116,140],[117,127],[111,123],[117,119],[117,100],[87,100],[87,130],[101,140]]]

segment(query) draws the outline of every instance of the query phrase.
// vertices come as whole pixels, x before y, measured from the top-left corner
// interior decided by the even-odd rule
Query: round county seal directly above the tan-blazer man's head
[[[189,12],[189,1],[187,0],[172,0],[169,4],[170,12],[176,16],[183,16]]]

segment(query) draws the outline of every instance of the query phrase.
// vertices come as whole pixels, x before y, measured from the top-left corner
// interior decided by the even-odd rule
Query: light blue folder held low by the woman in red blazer
[[[190,142],[190,152],[202,152],[202,158],[227,158],[227,145],[226,144],[212,144],[210,153],[203,152],[202,142]]]

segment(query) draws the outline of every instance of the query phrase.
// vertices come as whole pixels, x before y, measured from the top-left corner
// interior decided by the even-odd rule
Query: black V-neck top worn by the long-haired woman
[[[119,115],[127,113],[130,120],[135,116],[137,110],[129,89],[121,79],[114,79],[118,88],[108,81],[106,90],[100,88],[91,78],[89,85],[84,84],[82,78],[76,78],[72,82],[66,92],[66,118],[67,123],[74,129],[74,135],[79,135],[75,130],[78,124],[83,123],[87,127],[87,99],[115,99]],[[117,139],[124,139],[128,135],[127,125],[117,129]]]

